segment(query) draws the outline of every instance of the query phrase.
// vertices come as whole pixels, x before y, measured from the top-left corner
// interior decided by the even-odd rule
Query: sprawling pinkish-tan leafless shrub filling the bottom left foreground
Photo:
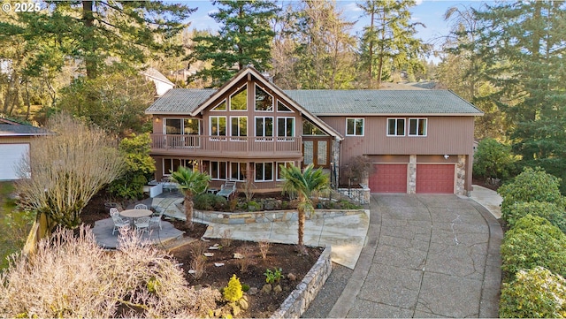
[[[171,256],[120,235],[104,252],[92,232],[58,230],[37,252],[14,256],[0,277],[1,317],[195,317],[216,308],[220,293],[195,291]],[[135,308],[119,313],[119,306]]]

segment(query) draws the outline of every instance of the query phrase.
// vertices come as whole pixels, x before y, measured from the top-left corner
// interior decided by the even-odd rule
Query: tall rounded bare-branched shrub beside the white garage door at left
[[[103,130],[68,115],[50,119],[52,135],[32,139],[20,164],[16,189],[21,206],[53,224],[76,228],[80,211],[104,185],[119,177],[124,159]],[[29,174],[32,174],[31,178]]]

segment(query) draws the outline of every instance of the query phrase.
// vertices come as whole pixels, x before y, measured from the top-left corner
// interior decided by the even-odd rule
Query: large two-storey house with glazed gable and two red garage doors
[[[280,165],[313,163],[337,186],[340,167],[364,155],[371,192],[409,194],[468,194],[483,115],[447,90],[281,90],[252,67],[218,89],[172,89],[146,113],[157,179],[185,165],[215,187],[253,178],[271,192]]]

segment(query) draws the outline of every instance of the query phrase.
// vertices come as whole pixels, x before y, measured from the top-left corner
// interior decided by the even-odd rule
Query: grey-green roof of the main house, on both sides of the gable
[[[188,113],[216,89],[169,90],[146,110],[153,113]],[[283,90],[317,116],[359,115],[482,115],[471,103],[449,90]]]

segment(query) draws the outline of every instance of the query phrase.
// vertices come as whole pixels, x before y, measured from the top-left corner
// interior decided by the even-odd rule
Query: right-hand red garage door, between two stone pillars
[[[454,194],[454,165],[417,164],[417,193]]]

